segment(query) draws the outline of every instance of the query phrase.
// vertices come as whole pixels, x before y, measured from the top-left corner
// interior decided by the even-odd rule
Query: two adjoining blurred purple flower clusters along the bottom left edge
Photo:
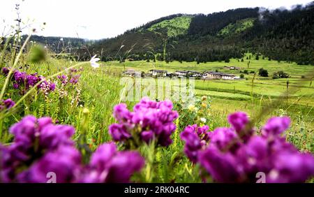
[[[128,182],[144,166],[137,152],[118,152],[113,143],[98,147],[89,165],[71,136],[73,126],[55,125],[50,117],[24,117],[10,128],[14,141],[0,145],[0,182]]]

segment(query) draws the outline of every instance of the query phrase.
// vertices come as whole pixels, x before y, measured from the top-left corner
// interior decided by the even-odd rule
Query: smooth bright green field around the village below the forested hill
[[[251,59],[246,59],[250,55]],[[244,79],[241,80],[195,80],[195,94],[197,96],[210,96],[213,112],[219,114],[224,112],[225,115],[236,110],[243,110],[254,115],[263,108],[267,108],[269,103],[281,99],[281,105],[277,105],[270,115],[281,115],[278,114],[280,112],[292,116],[292,119],[295,120],[301,117],[308,123],[309,128],[313,129],[314,86],[312,80],[314,67],[283,61],[269,61],[268,58],[262,59],[261,57],[256,60],[252,54],[246,54],[246,57],[244,57],[244,62],[241,62],[241,59],[240,61],[230,59],[230,63],[207,62],[200,64],[196,62],[179,63],[179,61],[173,61],[169,64],[162,61],[126,61],[123,63],[110,61],[103,62],[103,67],[117,72],[124,71],[124,69],[147,72],[156,68],[168,72],[176,70],[220,71],[237,76],[241,74],[240,71],[248,70],[248,73],[255,71],[255,75],[253,73],[244,74]],[[248,61],[250,61],[249,66]],[[223,68],[224,66],[236,66],[241,69],[230,70]],[[260,68],[267,69],[269,72],[268,78],[258,75]],[[290,77],[272,79],[273,73],[277,71],[284,71]],[[288,87],[287,81],[289,82]]]

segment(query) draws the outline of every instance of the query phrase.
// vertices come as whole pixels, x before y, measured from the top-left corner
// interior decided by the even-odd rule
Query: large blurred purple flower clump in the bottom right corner
[[[299,152],[281,134],[288,129],[288,117],[273,117],[257,136],[248,116],[236,112],[228,117],[230,128],[218,128],[210,135],[197,162],[216,182],[255,182],[256,174],[266,182],[304,182],[314,175],[314,157]]]

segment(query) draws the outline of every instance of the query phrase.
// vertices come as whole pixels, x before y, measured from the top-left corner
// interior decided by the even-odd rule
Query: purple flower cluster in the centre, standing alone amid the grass
[[[141,141],[149,143],[156,140],[158,145],[172,143],[170,136],[176,129],[173,123],[178,113],[172,110],[171,101],[150,101],[144,97],[130,112],[126,104],[114,107],[114,117],[118,124],[112,124],[109,132],[114,141],[133,143],[139,146]]]

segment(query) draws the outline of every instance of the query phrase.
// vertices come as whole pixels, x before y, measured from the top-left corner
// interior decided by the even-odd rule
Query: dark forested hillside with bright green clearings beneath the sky
[[[48,40],[54,50],[70,43],[79,48],[75,52],[81,59],[93,53],[103,61],[229,61],[250,51],[264,58],[313,65],[314,3],[292,10],[238,8],[209,15],[170,15],[94,43],[58,39]],[[89,44],[89,52],[84,44]]]

